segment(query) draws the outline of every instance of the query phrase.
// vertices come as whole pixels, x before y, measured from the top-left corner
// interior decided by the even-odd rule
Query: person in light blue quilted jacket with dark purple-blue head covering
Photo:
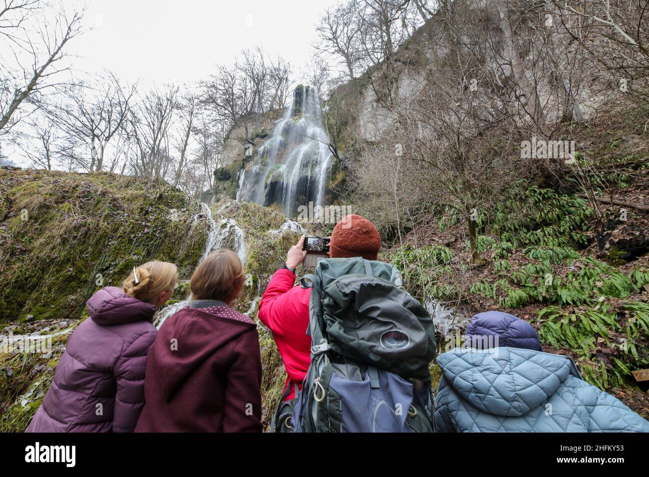
[[[568,356],[543,352],[531,324],[478,313],[467,347],[437,356],[437,432],[649,432],[649,422],[582,380]]]

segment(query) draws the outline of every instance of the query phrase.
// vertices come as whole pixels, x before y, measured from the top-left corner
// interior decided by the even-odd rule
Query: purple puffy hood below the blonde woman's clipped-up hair
[[[134,321],[152,321],[156,307],[134,297],[121,288],[104,287],[86,302],[88,313],[97,324],[114,326]]]

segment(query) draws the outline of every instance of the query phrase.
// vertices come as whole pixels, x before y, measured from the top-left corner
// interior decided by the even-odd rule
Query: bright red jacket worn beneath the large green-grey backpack
[[[295,274],[279,269],[271,278],[259,305],[259,319],[273,332],[277,349],[284,360],[288,378],[284,389],[293,380],[299,388],[311,362],[311,337],[309,327],[310,288],[293,286]],[[295,397],[291,391],[287,399]]]

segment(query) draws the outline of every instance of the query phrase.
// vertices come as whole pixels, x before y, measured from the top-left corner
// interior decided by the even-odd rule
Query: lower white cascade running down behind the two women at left
[[[206,215],[208,219],[208,223],[210,224],[210,233],[205,242],[205,249],[196,266],[200,265],[212,251],[227,248],[237,254],[241,263],[243,263],[243,266],[245,267],[247,249],[241,227],[239,227],[236,221],[232,219],[223,219],[217,224],[212,216],[212,209],[210,209],[210,207],[204,202],[201,202],[201,214]],[[171,315],[175,315],[175,313],[182,310],[182,308],[189,306],[190,300],[191,297],[169,306],[165,306],[162,310],[158,310],[153,319],[154,326],[160,329],[160,326],[162,326],[167,318]]]

